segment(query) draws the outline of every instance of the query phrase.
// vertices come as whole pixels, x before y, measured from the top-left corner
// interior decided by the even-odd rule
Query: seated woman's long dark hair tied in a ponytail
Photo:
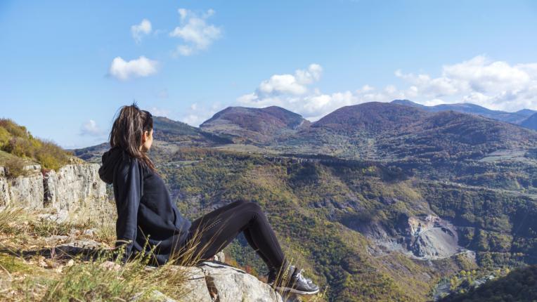
[[[142,136],[145,131],[153,129],[153,115],[146,110],[140,110],[136,101],[132,105],[124,105],[120,108],[119,115],[112,124],[110,131],[110,147],[121,147],[129,152],[131,157],[136,157],[142,164],[148,166],[157,173],[155,165],[149,159],[145,151],[139,148],[142,145]]]

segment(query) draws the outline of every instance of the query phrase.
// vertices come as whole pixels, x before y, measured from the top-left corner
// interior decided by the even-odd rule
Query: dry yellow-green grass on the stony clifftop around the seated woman
[[[155,299],[155,290],[182,301],[193,273],[186,267],[206,260],[200,258],[200,250],[209,247],[209,243],[200,247],[203,229],[167,263],[152,268],[148,266],[152,251],[121,263],[117,255],[123,250],[111,249],[116,239],[115,213],[91,215],[80,209],[65,222],[39,218],[39,214],[29,209],[0,209],[0,301],[129,301],[135,297],[148,301]],[[91,235],[84,234],[88,229],[93,230]],[[86,254],[54,254],[54,248],[68,240],[65,236],[93,239],[103,248],[91,259]],[[47,249],[51,251],[47,256],[25,254]],[[323,297],[318,294],[303,301],[324,301]]]

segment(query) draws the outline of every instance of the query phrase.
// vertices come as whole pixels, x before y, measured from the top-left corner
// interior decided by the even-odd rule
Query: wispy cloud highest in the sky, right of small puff
[[[192,55],[197,51],[207,49],[222,34],[221,27],[207,23],[207,19],[214,15],[214,10],[209,9],[206,13],[198,15],[186,8],[179,8],[181,25],[169,33],[170,37],[176,37],[183,41],[176,48],[178,55]]]

